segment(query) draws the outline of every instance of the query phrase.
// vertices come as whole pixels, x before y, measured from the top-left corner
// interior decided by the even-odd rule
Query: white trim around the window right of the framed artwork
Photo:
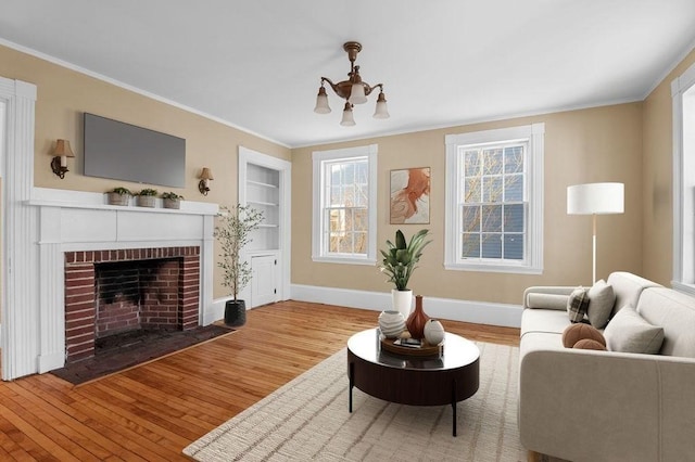
[[[500,128],[470,133],[447,134],[446,176],[445,176],[445,218],[444,218],[444,268],[458,271],[514,272],[541,274],[543,272],[543,157],[545,124],[532,124],[519,127]],[[458,147],[469,144],[494,144],[507,141],[528,143],[526,174],[528,176],[528,221],[525,249],[527,259],[519,262],[505,261],[458,261]]]

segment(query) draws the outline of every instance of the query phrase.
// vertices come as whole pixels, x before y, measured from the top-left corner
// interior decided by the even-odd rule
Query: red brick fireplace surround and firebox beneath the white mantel
[[[97,338],[199,325],[200,247],[65,253],[65,352],[94,355]]]

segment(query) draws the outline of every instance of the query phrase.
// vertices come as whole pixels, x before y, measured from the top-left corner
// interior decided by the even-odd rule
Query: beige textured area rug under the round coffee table
[[[184,453],[199,461],[526,461],[517,428],[519,349],[477,345],[480,388],[458,403],[457,437],[451,406],[394,405],[354,388],[351,414],[343,349]]]

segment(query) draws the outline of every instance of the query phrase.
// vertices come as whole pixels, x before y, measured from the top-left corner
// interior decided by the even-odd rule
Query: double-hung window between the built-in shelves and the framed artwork
[[[376,264],[377,145],[313,153],[314,261]]]

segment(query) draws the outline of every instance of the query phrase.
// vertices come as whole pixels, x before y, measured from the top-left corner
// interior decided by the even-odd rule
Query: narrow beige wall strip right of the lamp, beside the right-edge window
[[[695,63],[695,50],[644,102],[643,164],[645,278],[668,285],[673,275],[673,114],[671,81]]]

